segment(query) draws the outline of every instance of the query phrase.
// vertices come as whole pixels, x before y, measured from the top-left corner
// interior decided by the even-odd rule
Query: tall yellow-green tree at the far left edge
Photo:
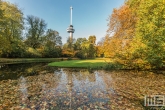
[[[0,1],[0,54],[3,57],[19,46],[22,38],[23,13],[17,5]],[[14,50],[13,50],[14,49]]]

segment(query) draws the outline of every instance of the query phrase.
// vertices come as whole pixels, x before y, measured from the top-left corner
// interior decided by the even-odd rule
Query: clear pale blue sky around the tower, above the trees
[[[74,38],[95,35],[97,41],[106,35],[107,19],[113,8],[119,8],[124,0],[6,0],[22,9],[24,16],[42,18],[51,28],[60,33],[63,43],[69,36],[70,6],[73,7]]]

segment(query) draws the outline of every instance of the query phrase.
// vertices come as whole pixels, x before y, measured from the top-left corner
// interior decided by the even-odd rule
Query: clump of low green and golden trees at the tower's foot
[[[96,56],[95,46],[96,36],[78,38],[77,40],[68,38],[67,43],[63,46],[64,57],[78,57],[81,59],[94,58]]]

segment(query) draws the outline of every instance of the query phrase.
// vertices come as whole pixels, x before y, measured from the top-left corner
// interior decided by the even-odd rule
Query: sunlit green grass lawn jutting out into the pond
[[[73,67],[73,68],[97,68],[104,66],[106,63],[110,62],[107,58],[98,58],[98,59],[90,59],[90,60],[69,60],[69,61],[61,61],[61,62],[52,62],[49,63],[49,66],[56,67]]]

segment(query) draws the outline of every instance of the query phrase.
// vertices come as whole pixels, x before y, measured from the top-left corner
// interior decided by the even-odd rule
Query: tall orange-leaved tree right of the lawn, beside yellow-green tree
[[[104,48],[109,57],[126,53],[130,42],[135,36],[137,17],[129,5],[124,4],[119,9],[114,9],[109,17],[108,30]]]

